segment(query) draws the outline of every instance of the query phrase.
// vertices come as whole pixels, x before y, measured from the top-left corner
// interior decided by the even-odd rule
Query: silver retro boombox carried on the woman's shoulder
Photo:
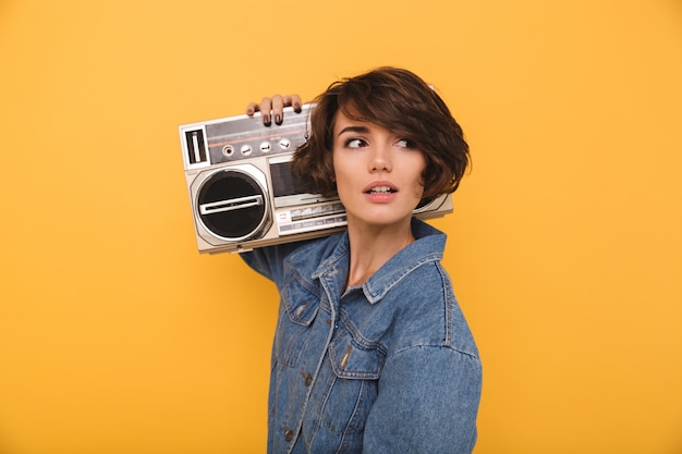
[[[280,125],[266,126],[256,113],[180,126],[200,253],[243,253],[345,228],[339,198],[312,194],[305,179],[290,171],[293,152],[306,140],[313,109],[285,108]],[[450,195],[423,200],[414,210],[419,219],[449,212]]]

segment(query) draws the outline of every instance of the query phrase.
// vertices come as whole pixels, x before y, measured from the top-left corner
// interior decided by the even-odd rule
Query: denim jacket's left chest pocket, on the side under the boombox
[[[319,310],[319,294],[293,280],[281,291],[280,319],[275,338],[275,358],[289,367],[296,367],[306,351],[310,326]]]

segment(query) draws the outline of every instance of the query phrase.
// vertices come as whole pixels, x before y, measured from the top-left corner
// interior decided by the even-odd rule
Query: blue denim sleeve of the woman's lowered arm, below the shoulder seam
[[[468,454],[476,443],[478,358],[416,346],[388,358],[365,426],[364,452]]]

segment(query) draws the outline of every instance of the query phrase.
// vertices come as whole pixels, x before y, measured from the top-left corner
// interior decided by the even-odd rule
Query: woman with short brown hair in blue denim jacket
[[[276,96],[247,113],[279,123],[300,103]],[[456,189],[462,130],[427,84],[394,68],[332,84],[310,123],[292,167],[338,193],[348,231],[242,255],[281,295],[268,452],[471,453],[478,352],[440,265],[446,235],[412,217]]]

